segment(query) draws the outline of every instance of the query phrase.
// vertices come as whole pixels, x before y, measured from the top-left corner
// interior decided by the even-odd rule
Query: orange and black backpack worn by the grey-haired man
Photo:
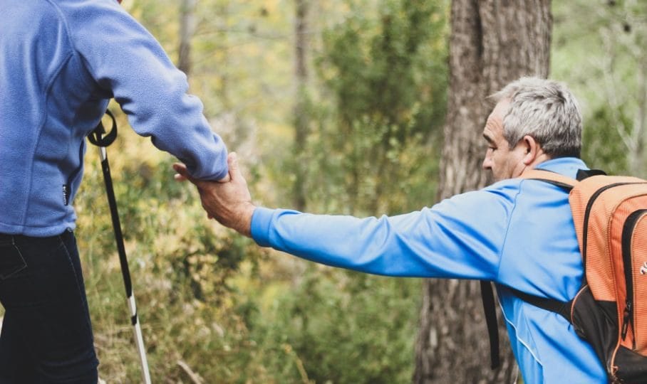
[[[647,383],[647,181],[600,171],[580,171],[579,181],[540,170],[522,177],[570,190],[584,278],[567,303],[514,294],[566,317],[612,383]]]

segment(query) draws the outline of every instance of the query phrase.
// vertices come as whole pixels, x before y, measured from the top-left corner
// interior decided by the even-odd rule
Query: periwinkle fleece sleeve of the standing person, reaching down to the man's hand
[[[110,92],[135,132],[187,164],[196,178],[227,174],[227,149],[187,94],[184,73],[116,1],[76,1],[66,21],[72,44],[100,89]]]

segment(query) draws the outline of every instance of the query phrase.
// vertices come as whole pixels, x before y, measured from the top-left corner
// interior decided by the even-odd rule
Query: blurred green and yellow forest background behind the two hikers
[[[449,0],[123,6],[185,70],[259,205],[363,216],[435,203]],[[647,1],[554,1],[552,16],[549,77],[581,102],[584,159],[646,177]],[[121,129],[108,153],[153,382],[411,382],[422,280],[259,248],[207,220],[149,140]],[[138,382],[93,148],[76,209],[100,377]]]

